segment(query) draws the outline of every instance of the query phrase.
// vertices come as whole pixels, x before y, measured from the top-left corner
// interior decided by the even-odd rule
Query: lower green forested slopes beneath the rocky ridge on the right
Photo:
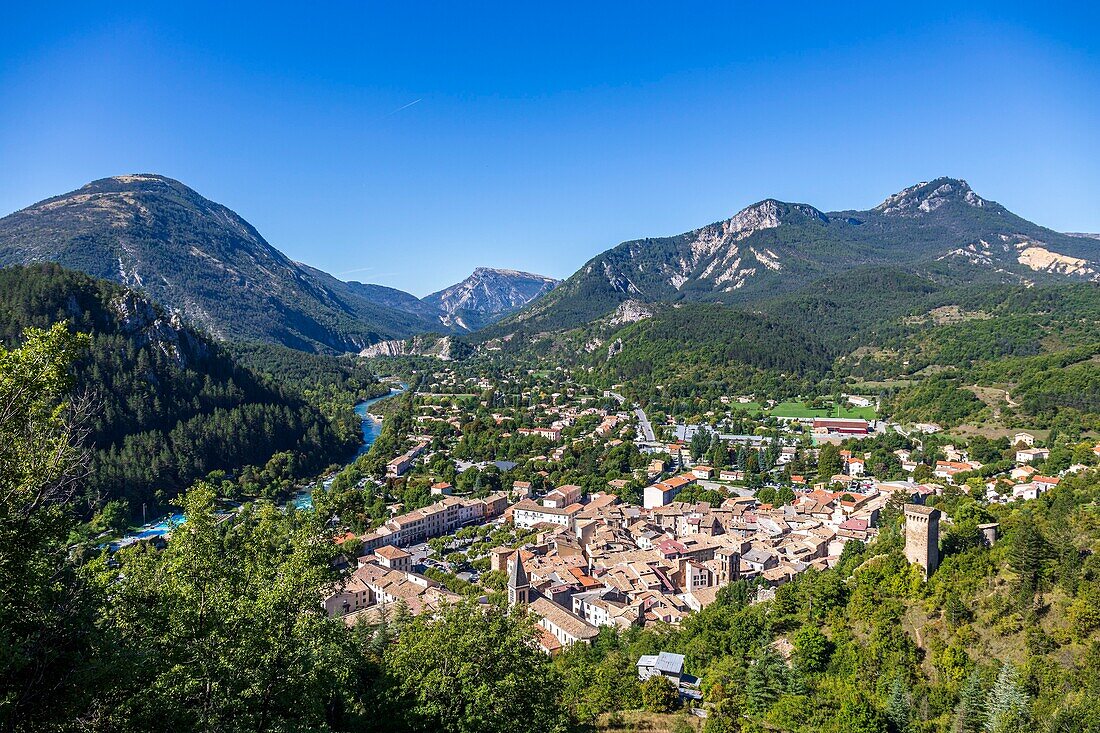
[[[689,414],[735,394],[870,391],[903,422],[1080,431],[1100,429],[1098,324],[1098,283],[959,283],[877,266],[751,303],[625,300],[581,327],[520,329],[479,352],[580,366]]]

